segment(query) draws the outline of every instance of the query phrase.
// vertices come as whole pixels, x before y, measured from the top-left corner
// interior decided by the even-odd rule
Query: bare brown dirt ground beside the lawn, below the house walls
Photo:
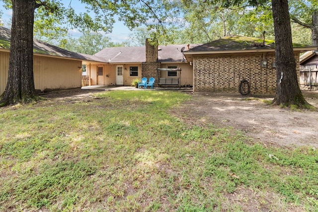
[[[42,95],[63,101],[89,101],[101,90],[61,90]],[[107,91],[110,92],[110,91]],[[318,108],[318,91],[303,90],[306,100]],[[293,111],[263,103],[274,96],[242,96],[240,94],[192,94],[191,101],[172,111],[190,125],[213,123],[232,126],[248,137],[264,143],[318,147],[318,111]],[[255,97],[252,100],[246,98]]]

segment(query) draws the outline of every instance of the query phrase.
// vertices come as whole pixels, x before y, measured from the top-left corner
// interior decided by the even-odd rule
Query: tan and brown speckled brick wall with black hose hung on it
[[[299,79],[299,53],[295,54]],[[267,61],[267,67],[261,62]],[[242,79],[249,82],[251,94],[276,93],[274,53],[193,55],[193,92],[239,92]]]

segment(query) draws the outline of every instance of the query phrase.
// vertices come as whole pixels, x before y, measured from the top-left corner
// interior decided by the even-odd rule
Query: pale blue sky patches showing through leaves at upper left
[[[61,0],[65,6],[68,6],[71,2],[72,7],[74,7],[75,11],[84,11],[84,5],[79,2],[79,0]],[[4,24],[4,27],[8,27],[8,23],[11,21],[12,10],[5,10],[3,7],[3,2],[0,0],[0,10],[3,12],[0,20]],[[116,21],[113,25],[113,30],[111,33],[103,35],[110,37],[111,41],[114,43],[121,43],[123,41],[127,41],[129,39],[129,34],[132,32],[124,25],[121,21]],[[72,37],[79,37],[81,33],[77,30],[70,30],[69,34]]]

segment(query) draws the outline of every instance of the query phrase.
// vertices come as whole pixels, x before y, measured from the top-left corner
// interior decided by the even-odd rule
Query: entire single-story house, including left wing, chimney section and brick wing
[[[0,93],[7,80],[9,38],[10,31],[0,27]],[[300,53],[315,49],[294,44],[298,73]],[[193,92],[240,92],[243,81],[252,94],[276,92],[273,40],[226,36],[206,44],[158,46],[147,39],[145,47],[105,48],[93,56],[34,40],[36,89],[81,87],[82,64],[88,85],[130,86],[136,78],[155,77],[155,86],[160,79],[178,79]]]

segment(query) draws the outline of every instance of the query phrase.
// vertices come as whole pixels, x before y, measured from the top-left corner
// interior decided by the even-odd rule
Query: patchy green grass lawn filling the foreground
[[[317,150],[189,126],[171,109],[190,100],[111,91],[0,108],[0,211],[318,211]]]

